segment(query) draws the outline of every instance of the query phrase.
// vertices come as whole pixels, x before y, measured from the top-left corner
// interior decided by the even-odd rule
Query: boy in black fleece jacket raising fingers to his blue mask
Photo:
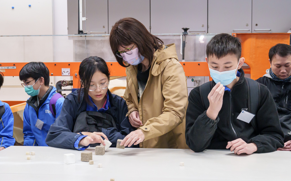
[[[266,153],[284,146],[284,134],[272,95],[260,84],[257,128],[237,119],[248,111],[248,88],[244,78],[241,43],[229,34],[214,36],[206,47],[206,62],[213,81],[204,108],[199,87],[189,94],[186,112],[186,143],[195,152],[230,149],[235,154]],[[224,86],[223,86],[224,85]]]

